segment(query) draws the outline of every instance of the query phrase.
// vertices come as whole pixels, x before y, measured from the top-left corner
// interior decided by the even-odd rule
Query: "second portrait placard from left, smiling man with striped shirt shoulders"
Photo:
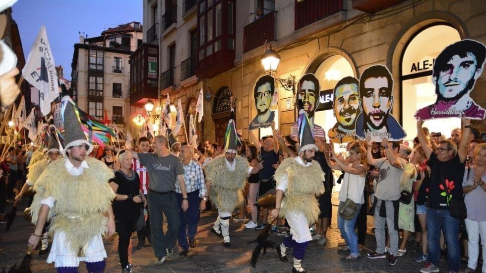
[[[304,110],[305,113],[307,113],[314,137],[325,137],[322,127],[314,124],[314,112],[319,103],[319,92],[319,80],[312,73],[305,74],[299,81],[297,106],[299,112]],[[297,125],[297,122],[292,124],[291,130],[291,136],[297,136],[299,134],[299,126]]]

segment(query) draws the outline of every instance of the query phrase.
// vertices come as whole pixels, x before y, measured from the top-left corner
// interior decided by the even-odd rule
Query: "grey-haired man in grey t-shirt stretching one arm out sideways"
[[[147,168],[149,176],[149,190],[147,194],[150,230],[154,247],[156,266],[162,265],[166,260],[175,259],[177,253],[173,250],[176,244],[179,227],[179,205],[177,203],[176,181],[182,191],[182,210],[186,211],[189,202],[184,183],[184,169],[181,160],[169,151],[169,141],[165,136],[155,136],[153,142],[154,153],[131,153],[132,158],[140,160]],[[110,146],[111,150],[120,149]],[[167,232],[162,230],[163,216],[167,217]]]

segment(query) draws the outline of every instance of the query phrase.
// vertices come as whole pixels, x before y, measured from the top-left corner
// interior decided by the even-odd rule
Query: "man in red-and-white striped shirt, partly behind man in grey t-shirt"
[[[138,139],[138,152],[148,152],[150,149],[150,141],[146,136],[142,136]],[[148,173],[147,168],[140,163],[138,159],[132,159],[132,170],[137,172],[138,177],[140,177],[140,190],[142,190],[143,195],[145,198],[147,197],[148,191]],[[148,215],[148,205],[146,207],[147,211],[147,221],[145,221],[144,213],[140,213],[140,218],[137,221],[137,237],[138,237],[138,244],[137,249],[142,249],[145,246],[145,238],[147,238],[148,242],[152,241],[152,237],[150,234],[150,217]]]

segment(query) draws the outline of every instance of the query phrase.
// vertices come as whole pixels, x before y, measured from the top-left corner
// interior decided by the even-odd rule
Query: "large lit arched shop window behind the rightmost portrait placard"
[[[459,32],[445,24],[428,26],[415,34],[401,59],[401,103],[402,125],[407,138],[417,136],[415,112],[435,102],[435,86],[432,83],[432,68],[435,58],[448,45],[460,41]],[[430,132],[450,136],[454,128],[461,127],[459,118],[437,119],[425,122]]]

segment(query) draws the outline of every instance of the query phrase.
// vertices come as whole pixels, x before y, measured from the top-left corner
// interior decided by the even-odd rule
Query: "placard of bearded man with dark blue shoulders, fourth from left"
[[[393,78],[388,68],[371,66],[363,71],[360,78],[361,113],[356,119],[356,135],[380,142],[383,137],[398,141],[407,134],[390,114],[393,106]]]

